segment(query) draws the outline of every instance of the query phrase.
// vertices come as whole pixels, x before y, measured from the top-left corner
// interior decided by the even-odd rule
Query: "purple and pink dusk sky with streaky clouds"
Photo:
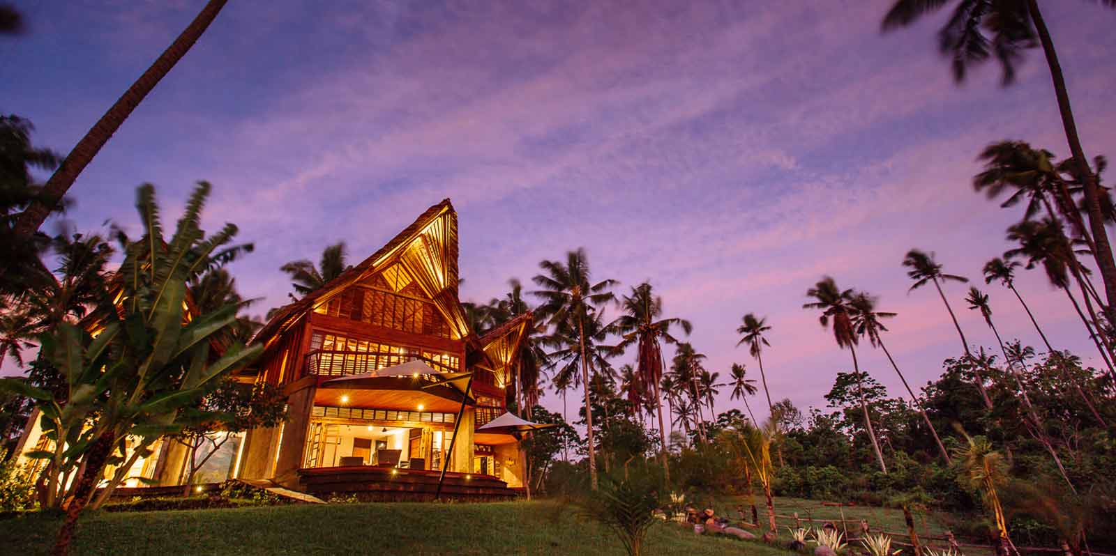
[[[17,2],[30,31],[0,39],[0,110],[67,150],[203,3]],[[946,13],[881,36],[889,3],[230,2],[78,179],[70,217],[134,225],[143,182],[170,217],[208,179],[208,226],[257,244],[233,271],[262,313],[286,300],[283,262],[338,240],[359,261],[451,197],[464,300],[585,246],[596,277],[650,279],[722,375],[739,361],[758,378],[735,328],[767,315],[771,396],[805,410],[850,367],[800,309],[831,274],[899,313],[886,341],[921,384],[960,347],[933,291],[906,293],[904,253],[979,279],[1019,212],[972,192],[977,153],[1068,149],[1040,52],[1011,88],[991,65],[956,87],[935,49]],[[1116,12],[1040,4],[1086,153],[1113,154]],[[1095,364],[1064,295],[1037,272],[1019,287],[1056,347]],[[1001,334],[1037,344],[1010,294],[987,290]],[[994,342],[964,287],[947,294],[970,341]],[[862,352],[897,396],[883,354]],[[728,390],[719,410],[738,403]]]

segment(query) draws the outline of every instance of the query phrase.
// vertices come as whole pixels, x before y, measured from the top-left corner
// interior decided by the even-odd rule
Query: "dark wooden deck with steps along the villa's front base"
[[[439,475],[439,471],[373,466],[298,470],[300,490],[325,500],[331,496],[355,496],[364,501],[431,501],[437,490]],[[507,482],[489,475],[446,472],[442,485],[444,500],[499,501],[517,496]]]

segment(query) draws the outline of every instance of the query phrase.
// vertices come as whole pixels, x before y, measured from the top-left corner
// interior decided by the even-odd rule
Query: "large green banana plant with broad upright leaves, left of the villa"
[[[243,343],[222,353],[211,351],[214,336],[234,325],[237,305],[206,314],[190,310],[189,280],[251,250],[231,244],[237,234],[232,224],[205,236],[200,221],[209,192],[209,184],[199,184],[166,241],[154,187],[140,187],[136,207],[144,235],[127,241],[122,234],[125,257],[108,282],[105,301],[85,326],[64,323],[42,339],[45,357],[68,386],[65,400],[19,380],[0,382],[0,388],[36,400],[55,446],[49,453],[48,506],[66,509],[55,554],[68,549],[74,524],[106,462],[123,460],[113,452],[126,438],[141,439],[136,451],[142,453],[160,437],[180,431],[183,410],[195,404],[212,381],[242,369],[262,351]],[[131,461],[135,457],[133,452]],[[75,480],[67,487],[70,472]],[[118,479],[114,477],[110,487]]]

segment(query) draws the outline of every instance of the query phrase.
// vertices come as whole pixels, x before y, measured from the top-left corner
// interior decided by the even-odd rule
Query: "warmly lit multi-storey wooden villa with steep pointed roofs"
[[[445,199],[276,311],[252,340],[263,355],[238,379],[281,387],[287,421],[230,438],[201,478],[364,499],[429,499],[440,480],[454,498],[514,496],[525,477],[518,437],[478,429],[506,412],[531,314],[478,334],[458,281],[458,217]],[[21,451],[41,443],[37,421]],[[183,445],[160,441],[126,486],[181,485],[186,457]]]

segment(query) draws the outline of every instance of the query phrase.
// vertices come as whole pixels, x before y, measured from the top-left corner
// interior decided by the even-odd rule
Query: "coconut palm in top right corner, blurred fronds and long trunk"
[[[936,11],[946,3],[950,2],[897,0],[884,17],[883,29],[887,31],[910,26],[922,16]],[[1116,2],[1113,0],[1104,0],[1101,3],[1116,8]],[[1058,61],[1054,39],[1039,10],[1038,0],[956,0],[955,4],[953,16],[939,31],[939,48],[953,60],[953,76],[959,82],[964,80],[970,66],[984,62],[990,56],[994,56],[1003,70],[1003,84],[1011,84],[1016,75],[1016,62],[1022,58],[1022,51],[1036,45],[1036,37],[1038,43],[1042,46],[1066,142],[1069,144],[1077,174],[1083,182],[1084,204],[1089,216],[1089,228],[1096,242],[1093,256],[1104,279],[1108,306],[1116,306],[1116,262],[1113,260],[1112,245],[1105,231],[1100,186],[1089,168],[1088,158],[1081,147],[1061,64]]]

